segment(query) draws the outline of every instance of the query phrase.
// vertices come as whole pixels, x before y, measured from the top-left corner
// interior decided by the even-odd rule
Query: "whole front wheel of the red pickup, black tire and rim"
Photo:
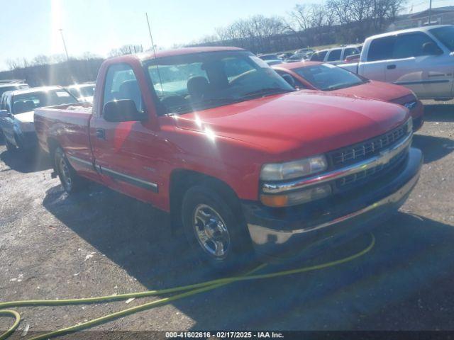
[[[238,199],[225,191],[203,185],[189,188],[182,202],[183,229],[201,261],[221,271],[238,271],[250,266],[255,256]]]

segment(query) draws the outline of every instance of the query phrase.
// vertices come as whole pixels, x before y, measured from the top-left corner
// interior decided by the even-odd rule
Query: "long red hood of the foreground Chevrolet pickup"
[[[176,124],[211,137],[240,140],[281,161],[382,135],[408,117],[406,108],[391,103],[295,91],[179,115]]]

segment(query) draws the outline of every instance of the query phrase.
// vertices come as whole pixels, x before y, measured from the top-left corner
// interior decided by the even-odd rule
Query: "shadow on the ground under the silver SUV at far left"
[[[21,150],[16,150],[15,152],[4,151],[0,154],[0,159],[9,168],[22,173],[52,168],[48,154],[35,150],[26,152]]]

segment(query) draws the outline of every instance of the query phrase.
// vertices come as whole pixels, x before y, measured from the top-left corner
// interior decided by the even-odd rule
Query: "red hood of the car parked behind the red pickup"
[[[345,89],[331,91],[331,93],[375,98],[380,101],[395,101],[396,99],[404,96],[411,96],[411,91],[404,86],[372,80],[358,86],[351,86]]]

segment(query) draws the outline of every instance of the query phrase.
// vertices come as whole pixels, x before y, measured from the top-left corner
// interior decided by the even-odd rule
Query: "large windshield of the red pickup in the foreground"
[[[145,67],[164,113],[294,91],[266,62],[245,51],[177,55],[149,60]]]

